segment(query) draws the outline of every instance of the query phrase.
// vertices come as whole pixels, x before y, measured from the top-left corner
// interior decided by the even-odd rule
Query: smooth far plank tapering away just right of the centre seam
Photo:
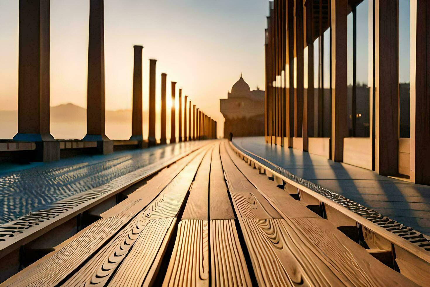
[[[227,194],[219,146],[220,143],[217,143],[212,150],[211,175],[209,179],[209,219],[235,219],[233,207]]]

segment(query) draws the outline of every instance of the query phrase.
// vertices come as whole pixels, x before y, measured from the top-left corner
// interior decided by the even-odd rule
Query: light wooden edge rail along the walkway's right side
[[[252,153],[251,151],[236,147],[232,142],[230,142],[230,147],[233,148],[233,151],[236,151],[237,153],[239,153],[240,157],[246,158],[250,165],[261,166],[261,163],[258,160],[255,160],[254,158],[250,157],[248,154],[245,154],[243,151],[246,151],[247,153],[249,153],[255,157],[258,157],[261,160],[264,160],[265,162],[272,165],[273,167],[277,167],[276,164],[271,163],[270,161]],[[241,149],[243,149],[243,151]],[[252,162],[252,163],[250,163],[250,162]],[[278,171],[275,171],[275,170],[273,170],[267,166],[264,166],[264,169],[266,170],[267,174],[270,175],[270,173],[271,173],[274,175],[274,177],[278,177],[279,179],[282,179],[283,181],[295,186],[296,188],[301,189],[302,191],[306,192],[310,196],[313,196],[314,198],[318,199],[319,201],[323,202],[324,204],[327,204],[330,207],[333,207],[335,210],[338,210],[339,212],[343,213],[345,216],[350,217],[351,219],[353,219],[354,221],[363,225],[365,228],[368,228],[369,230],[371,230],[375,234],[380,235],[381,237],[383,237],[387,241],[390,241],[392,244],[397,245],[397,246],[401,247],[402,249],[407,250],[409,253],[412,253],[415,256],[418,256],[420,259],[423,259],[424,261],[430,263],[430,253],[427,250],[425,250],[423,247],[419,247],[417,244],[410,242],[408,239],[402,238],[400,235],[396,235],[395,233],[393,233],[393,231],[397,231],[397,230],[388,231],[386,228],[383,228],[383,227],[379,226],[378,224],[375,224],[374,222],[370,221],[369,219],[366,219],[365,217],[360,216],[359,214],[353,212],[352,210],[349,210],[348,208],[344,207],[343,205],[341,205],[335,201],[332,201],[330,198],[327,198],[326,196],[324,196],[324,195],[320,194],[319,192],[311,189],[310,187],[313,186],[313,188],[317,188],[319,190],[324,190],[324,191],[329,191],[329,190],[326,190],[325,188],[321,188],[314,183],[308,182],[305,179],[301,179],[297,176],[292,175],[292,177],[297,178],[297,181],[295,181],[295,180],[290,179],[290,178],[284,176],[283,174],[279,173]],[[308,183],[308,186],[306,186],[306,185],[304,185],[298,181],[301,181],[302,183]],[[329,191],[329,192],[332,192],[332,191]],[[332,192],[332,193],[335,194],[334,192]],[[341,195],[338,195],[338,196],[341,197]],[[347,198],[344,198],[344,199],[347,200]],[[348,203],[349,203],[349,201],[348,201]],[[391,221],[394,221],[394,220],[391,220]],[[412,229],[412,231],[413,231],[413,229]],[[417,232],[418,234],[421,234],[418,231],[415,231],[415,232]]]

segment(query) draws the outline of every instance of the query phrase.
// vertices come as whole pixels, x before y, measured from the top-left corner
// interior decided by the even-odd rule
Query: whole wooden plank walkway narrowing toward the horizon
[[[208,141],[2,286],[415,286],[259,171]]]

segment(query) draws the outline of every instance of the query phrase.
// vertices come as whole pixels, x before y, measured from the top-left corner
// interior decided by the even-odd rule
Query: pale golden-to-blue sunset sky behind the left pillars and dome
[[[18,108],[18,2],[0,0],[1,110]],[[148,59],[157,59],[158,98],[164,72],[168,99],[175,81],[197,107],[223,122],[219,99],[241,73],[251,89],[264,89],[267,11],[265,0],[104,0],[106,109],[131,108],[133,45],[142,45],[144,103]],[[50,1],[51,106],[86,107],[88,25],[89,0]]]

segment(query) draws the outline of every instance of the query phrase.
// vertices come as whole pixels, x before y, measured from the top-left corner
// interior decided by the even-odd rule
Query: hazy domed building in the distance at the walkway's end
[[[264,91],[251,90],[240,79],[227,93],[227,99],[220,99],[220,111],[223,114],[224,138],[233,136],[264,136]]]

